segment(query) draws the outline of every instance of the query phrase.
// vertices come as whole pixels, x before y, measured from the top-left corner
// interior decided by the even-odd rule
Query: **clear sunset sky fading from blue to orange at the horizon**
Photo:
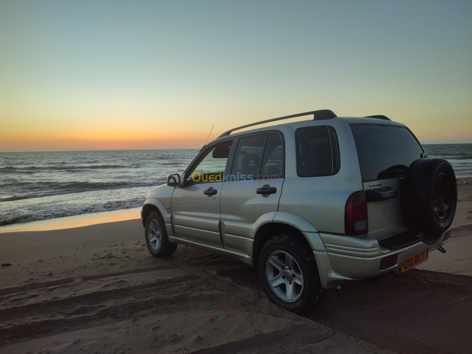
[[[0,1],[0,151],[201,147],[384,114],[472,143],[472,1]]]

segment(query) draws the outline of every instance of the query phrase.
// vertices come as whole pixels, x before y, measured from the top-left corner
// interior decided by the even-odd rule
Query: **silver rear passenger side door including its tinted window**
[[[254,223],[278,209],[285,177],[284,139],[281,132],[270,131],[243,135],[236,144],[221,193],[223,243],[251,254]]]

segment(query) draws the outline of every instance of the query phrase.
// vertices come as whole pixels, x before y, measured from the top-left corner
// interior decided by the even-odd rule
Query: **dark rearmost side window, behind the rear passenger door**
[[[331,176],[339,171],[339,147],[333,127],[298,128],[295,142],[298,176]]]

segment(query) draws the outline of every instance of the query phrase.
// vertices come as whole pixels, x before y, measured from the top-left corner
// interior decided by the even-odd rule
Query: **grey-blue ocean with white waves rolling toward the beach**
[[[426,144],[457,177],[472,176],[472,144]],[[0,153],[0,226],[135,208],[182,173],[198,149]]]

